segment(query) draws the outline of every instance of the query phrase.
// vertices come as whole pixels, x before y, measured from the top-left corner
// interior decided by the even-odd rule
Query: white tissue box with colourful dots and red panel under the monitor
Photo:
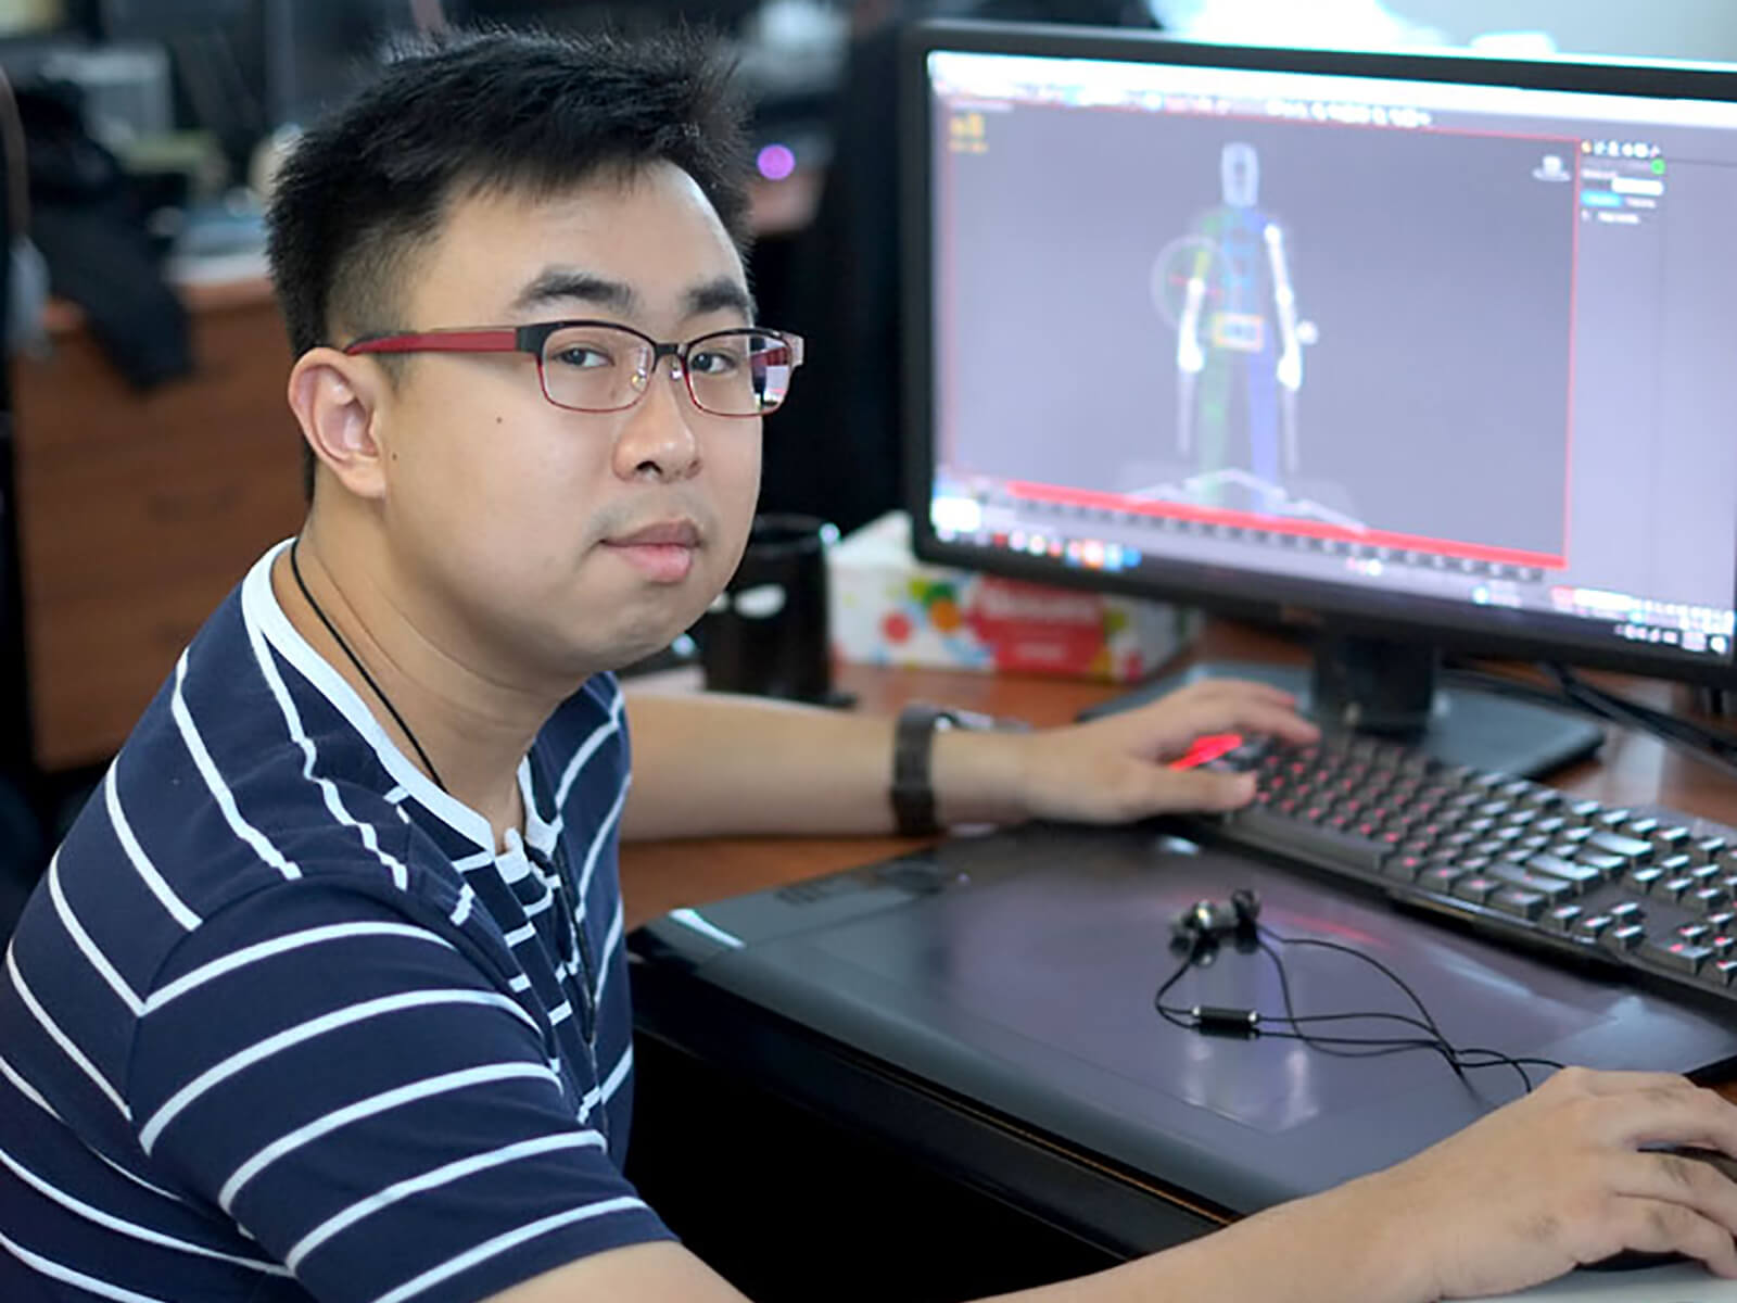
[[[1131,683],[1195,627],[1193,612],[1166,603],[922,565],[903,511],[834,544],[827,587],[834,655],[868,665]]]

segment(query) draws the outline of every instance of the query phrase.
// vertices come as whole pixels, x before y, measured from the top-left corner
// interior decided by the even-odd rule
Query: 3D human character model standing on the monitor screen
[[[1263,497],[1282,497],[1299,464],[1303,346],[1315,327],[1298,320],[1285,229],[1259,207],[1254,146],[1226,144],[1219,174],[1223,202],[1153,268],[1153,299],[1176,328],[1176,441],[1209,476],[1204,486],[1238,467]]]

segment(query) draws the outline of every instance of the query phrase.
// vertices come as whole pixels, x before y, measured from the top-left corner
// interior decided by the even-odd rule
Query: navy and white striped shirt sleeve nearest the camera
[[[137,1025],[153,1166],[325,1303],[479,1300],[670,1239],[578,1121],[585,1068],[415,905],[302,879],[205,919]]]

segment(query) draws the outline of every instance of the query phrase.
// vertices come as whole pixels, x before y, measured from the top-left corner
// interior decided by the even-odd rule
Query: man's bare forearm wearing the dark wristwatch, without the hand
[[[723,693],[627,693],[634,785],[622,834],[893,832],[893,721]],[[941,730],[931,780],[947,823],[1020,818],[1018,740]]]

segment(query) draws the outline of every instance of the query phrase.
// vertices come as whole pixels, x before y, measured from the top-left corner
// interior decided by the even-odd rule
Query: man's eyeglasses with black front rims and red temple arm
[[[790,375],[802,365],[802,337],[747,327],[662,344],[613,321],[540,321],[365,335],[344,353],[530,353],[544,398],[570,412],[627,410],[651,387],[657,365],[674,358],[697,408],[716,417],[759,417],[790,391]]]

